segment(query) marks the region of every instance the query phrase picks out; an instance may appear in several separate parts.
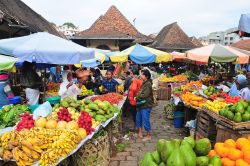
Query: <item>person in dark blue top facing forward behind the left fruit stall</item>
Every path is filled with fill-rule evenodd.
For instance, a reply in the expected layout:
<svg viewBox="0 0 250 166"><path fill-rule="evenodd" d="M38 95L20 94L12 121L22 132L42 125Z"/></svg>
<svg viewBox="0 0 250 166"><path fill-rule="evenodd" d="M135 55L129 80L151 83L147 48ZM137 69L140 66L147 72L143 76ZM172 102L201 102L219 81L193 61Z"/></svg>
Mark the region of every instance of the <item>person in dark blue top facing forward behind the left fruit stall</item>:
<svg viewBox="0 0 250 166"><path fill-rule="evenodd" d="M106 93L110 93L110 92L118 93L119 83L115 79L113 79L113 71L109 71L109 70L107 71L106 79L102 81L102 85Z"/></svg>

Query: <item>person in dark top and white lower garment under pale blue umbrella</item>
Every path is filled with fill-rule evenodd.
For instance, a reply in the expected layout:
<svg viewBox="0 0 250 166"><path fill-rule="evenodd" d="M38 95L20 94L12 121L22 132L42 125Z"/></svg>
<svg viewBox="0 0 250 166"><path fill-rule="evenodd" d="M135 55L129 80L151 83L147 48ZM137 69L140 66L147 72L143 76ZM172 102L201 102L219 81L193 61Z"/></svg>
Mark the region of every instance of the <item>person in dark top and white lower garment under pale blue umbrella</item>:
<svg viewBox="0 0 250 166"><path fill-rule="evenodd" d="M36 73L33 63L24 62L20 82L25 87L27 104L38 104L40 97L39 88L42 86L42 79Z"/></svg>

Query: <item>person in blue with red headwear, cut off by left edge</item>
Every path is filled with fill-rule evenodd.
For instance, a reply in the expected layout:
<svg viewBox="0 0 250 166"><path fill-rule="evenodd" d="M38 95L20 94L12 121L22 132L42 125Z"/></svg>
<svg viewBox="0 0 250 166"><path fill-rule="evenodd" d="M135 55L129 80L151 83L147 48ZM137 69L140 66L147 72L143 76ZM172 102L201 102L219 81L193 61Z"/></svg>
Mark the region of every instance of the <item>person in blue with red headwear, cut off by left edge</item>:
<svg viewBox="0 0 250 166"><path fill-rule="evenodd" d="M9 104L8 98L14 97L8 79L9 75L7 73L0 73L0 109Z"/></svg>

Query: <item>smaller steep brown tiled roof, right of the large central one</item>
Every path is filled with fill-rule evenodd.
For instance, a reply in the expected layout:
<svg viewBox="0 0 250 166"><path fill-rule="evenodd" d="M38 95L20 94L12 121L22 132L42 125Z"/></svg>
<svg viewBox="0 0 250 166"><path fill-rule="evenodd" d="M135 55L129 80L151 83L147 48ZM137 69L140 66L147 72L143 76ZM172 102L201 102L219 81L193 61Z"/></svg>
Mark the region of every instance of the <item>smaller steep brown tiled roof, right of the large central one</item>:
<svg viewBox="0 0 250 166"><path fill-rule="evenodd" d="M177 22L165 26L156 36L152 47L158 49L192 49L196 46L190 41L186 33Z"/></svg>

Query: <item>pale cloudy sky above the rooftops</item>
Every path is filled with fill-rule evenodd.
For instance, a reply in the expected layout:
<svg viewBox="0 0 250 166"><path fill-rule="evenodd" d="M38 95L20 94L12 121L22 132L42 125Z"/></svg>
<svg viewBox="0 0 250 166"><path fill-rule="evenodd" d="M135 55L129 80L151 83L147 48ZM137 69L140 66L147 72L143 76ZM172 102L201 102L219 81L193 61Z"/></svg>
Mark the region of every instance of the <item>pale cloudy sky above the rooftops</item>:
<svg viewBox="0 0 250 166"><path fill-rule="evenodd" d="M72 22L81 29L115 5L143 34L158 33L177 22L188 36L201 37L237 27L241 14L250 13L249 0L22 0L57 25Z"/></svg>

